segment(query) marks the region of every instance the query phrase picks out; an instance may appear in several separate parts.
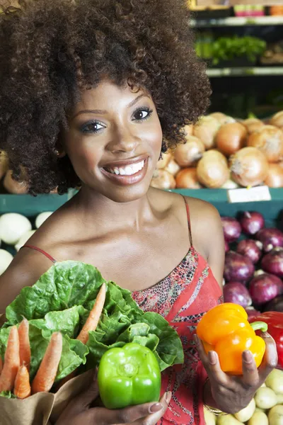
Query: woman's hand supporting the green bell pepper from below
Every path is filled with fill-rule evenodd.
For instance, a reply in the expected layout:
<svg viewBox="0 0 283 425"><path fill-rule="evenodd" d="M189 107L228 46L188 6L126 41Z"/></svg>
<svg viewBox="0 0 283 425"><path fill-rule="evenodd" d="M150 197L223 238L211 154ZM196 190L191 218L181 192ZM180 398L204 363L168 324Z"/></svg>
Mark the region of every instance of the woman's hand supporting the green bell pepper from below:
<svg viewBox="0 0 283 425"><path fill-rule="evenodd" d="M140 404L117 410L91 408L98 395L95 376L88 390L69 402L55 425L155 425L166 412L171 400L171 392L166 392L158 403Z"/></svg>

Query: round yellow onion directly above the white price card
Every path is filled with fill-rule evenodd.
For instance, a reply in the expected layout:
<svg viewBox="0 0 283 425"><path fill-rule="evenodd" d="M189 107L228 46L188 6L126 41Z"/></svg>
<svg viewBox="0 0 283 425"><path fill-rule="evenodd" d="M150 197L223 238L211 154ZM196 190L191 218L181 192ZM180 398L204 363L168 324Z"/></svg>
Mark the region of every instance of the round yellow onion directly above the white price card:
<svg viewBox="0 0 283 425"><path fill-rule="evenodd" d="M231 176L241 186L258 186L268 174L265 155L255 147L243 147L230 159Z"/></svg>

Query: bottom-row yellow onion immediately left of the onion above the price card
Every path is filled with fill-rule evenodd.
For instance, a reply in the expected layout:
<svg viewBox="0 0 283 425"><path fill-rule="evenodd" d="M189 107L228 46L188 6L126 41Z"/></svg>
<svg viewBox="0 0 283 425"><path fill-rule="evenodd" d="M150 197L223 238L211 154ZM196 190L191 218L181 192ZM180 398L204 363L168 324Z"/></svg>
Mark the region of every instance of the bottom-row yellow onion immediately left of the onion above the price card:
<svg viewBox="0 0 283 425"><path fill-rule="evenodd" d="M226 158L220 152L204 152L197 164L197 179L207 188L221 188L229 179Z"/></svg>

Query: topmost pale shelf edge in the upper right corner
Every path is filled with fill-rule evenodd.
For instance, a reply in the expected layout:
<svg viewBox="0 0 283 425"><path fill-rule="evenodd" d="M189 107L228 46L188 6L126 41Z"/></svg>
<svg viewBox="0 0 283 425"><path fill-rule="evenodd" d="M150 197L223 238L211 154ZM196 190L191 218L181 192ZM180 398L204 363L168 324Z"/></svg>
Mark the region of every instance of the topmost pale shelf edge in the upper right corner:
<svg viewBox="0 0 283 425"><path fill-rule="evenodd" d="M220 19L192 19L190 26L211 28L215 26L269 26L283 25L283 16L247 16Z"/></svg>

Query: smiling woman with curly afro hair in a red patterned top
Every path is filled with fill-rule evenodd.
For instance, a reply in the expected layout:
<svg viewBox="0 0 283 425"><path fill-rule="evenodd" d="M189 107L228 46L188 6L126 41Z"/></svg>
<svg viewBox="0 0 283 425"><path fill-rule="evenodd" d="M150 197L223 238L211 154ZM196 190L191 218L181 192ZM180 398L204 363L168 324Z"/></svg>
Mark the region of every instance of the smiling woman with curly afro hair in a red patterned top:
<svg viewBox="0 0 283 425"><path fill-rule="evenodd" d="M230 377L194 340L222 299L219 214L149 187L161 151L209 104L187 19L181 0L29 0L1 16L0 147L30 193L81 189L1 276L0 311L52 262L84 261L166 317L185 351L184 365L163 373L157 405L91 409L94 383L59 425L204 425L204 403L238 412L277 363L265 334L260 370L247 351L243 377Z"/></svg>

